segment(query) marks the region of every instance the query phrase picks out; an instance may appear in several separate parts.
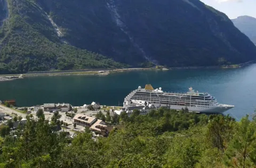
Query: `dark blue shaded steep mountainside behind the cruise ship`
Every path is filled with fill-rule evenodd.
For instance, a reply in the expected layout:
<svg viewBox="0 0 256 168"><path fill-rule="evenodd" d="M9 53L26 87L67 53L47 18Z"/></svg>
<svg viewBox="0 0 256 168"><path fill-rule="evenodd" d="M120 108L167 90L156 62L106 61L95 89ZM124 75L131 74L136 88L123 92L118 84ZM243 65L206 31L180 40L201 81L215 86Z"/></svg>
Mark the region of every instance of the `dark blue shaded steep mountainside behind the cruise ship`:
<svg viewBox="0 0 256 168"><path fill-rule="evenodd" d="M66 30L70 44L133 66L147 59L167 66L209 66L256 57L249 38L199 0L37 2Z"/></svg>

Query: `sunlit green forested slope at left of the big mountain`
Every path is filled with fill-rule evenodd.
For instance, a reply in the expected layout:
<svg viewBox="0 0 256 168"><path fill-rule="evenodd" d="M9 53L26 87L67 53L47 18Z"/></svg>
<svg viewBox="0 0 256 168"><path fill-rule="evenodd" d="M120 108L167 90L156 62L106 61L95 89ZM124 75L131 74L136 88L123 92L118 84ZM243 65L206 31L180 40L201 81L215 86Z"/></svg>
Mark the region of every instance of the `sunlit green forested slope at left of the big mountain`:
<svg viewBox="0 0 256 168"><path fill-rule="evenodd" d="M0 73L121 67L102 55L62 43L34 1L8 3L9 19L0 30Z"/></svg>

